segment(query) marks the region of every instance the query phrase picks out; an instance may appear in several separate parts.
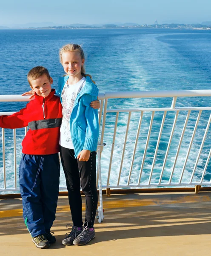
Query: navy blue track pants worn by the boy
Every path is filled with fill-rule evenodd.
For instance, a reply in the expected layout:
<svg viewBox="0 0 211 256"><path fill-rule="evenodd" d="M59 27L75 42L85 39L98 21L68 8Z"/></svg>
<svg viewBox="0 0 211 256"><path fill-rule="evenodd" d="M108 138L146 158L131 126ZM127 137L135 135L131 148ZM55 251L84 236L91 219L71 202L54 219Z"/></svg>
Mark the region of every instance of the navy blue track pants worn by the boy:
<svg viewBox="0 0 211 256"><path fill-rule="evenodd" d="M32 237L45 234L55 220L59 193L58 154L23 154L19 167L23 218Z"/></svg>

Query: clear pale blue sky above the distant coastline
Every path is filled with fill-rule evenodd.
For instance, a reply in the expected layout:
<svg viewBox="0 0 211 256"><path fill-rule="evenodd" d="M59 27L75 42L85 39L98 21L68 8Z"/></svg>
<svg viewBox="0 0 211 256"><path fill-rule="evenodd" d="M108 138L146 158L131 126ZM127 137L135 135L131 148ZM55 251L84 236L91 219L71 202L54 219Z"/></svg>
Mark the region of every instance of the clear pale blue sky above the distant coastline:
<svg viewBox="0 0 211 256"><path fill-rule="evenodd" d="M55 24L202 23L211 0L1 0L0 26Z"/></svg>

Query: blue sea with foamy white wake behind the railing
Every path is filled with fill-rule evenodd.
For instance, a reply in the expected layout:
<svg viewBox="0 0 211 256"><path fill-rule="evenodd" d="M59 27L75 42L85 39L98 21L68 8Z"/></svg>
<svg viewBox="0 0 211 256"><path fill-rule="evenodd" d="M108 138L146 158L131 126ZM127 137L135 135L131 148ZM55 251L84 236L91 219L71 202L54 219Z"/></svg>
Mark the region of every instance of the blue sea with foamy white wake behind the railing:
<svg viewBox="0 0 211 256"><path fill-rule="evenodd" d="M68 43L83 44L86 52L86 73L93 76L100 92L122 90L190 90L210 89L211 86L211 31L207 30L163 30L163 29L71 29L71 30L0 30L0 85L1 94L20 94L29 90L26 76L28 71L37 65L48 68L57 88L57 81L64 74L59 62L59 48ZM210 98L178 99L176 106L208 106ZM26 103L0 103L0 111L18 111ZM108 102L108 108L114 107L167 107L171 99L117 99ZM174 163L179 138L187 112L179 114L175 134L167 158L162 182L167 182ZM182 148L179 154L173 181L178 182L184 157L191 139L197 111L192 111L188 121ZM175 113L167 113L163 135L155 163L152 181L159 180L160 170L165 157L171 126ZM189 181L202 137L207 125L210 111L202 112L197 134L185 169L182 182ZM141 182L148 181L151 163L154 156L157 137L163 113L156 113L152 134L145 159ZM134 140L140 114L132 114L126 145L121 184L127 180ZM131 181L137 183L138 173L143 158L145 141L151 113L145 113L140 131L137 154ZM112 133L114 131L114 114L108 114L105 131L106 147L102 156L103 184L106 184L108 158L110 157ZM111 169L111 184L117 180L122 148L123 134L127 123L127 114L120 113L114 158ZM202 175L205 161L210 150L211 132L202 150L197 166L195 181ZM13 186L13 138L6 130L6 168L7 185ZM17 166L21 155L20 142L23 140L23 129L17 130ZM0 152L0 187L3 186L2 156ZM211 165L208 166L205 180L211 179ZM65 186L64 175L61 185Z"/></svg>

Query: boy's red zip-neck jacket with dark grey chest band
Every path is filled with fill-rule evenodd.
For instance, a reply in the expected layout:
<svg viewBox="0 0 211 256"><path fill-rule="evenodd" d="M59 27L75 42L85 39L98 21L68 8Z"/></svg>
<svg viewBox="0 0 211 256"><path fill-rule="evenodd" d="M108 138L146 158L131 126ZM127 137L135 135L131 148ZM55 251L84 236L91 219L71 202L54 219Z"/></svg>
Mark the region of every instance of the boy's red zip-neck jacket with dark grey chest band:
<svg viewBox="0 0 211 256"><path fill-rule="evenodd" d="M59 152L62 105L55 90L43 98L35 93L26 108L11 116L0 116L0 127L22 128L29 125L23 139L23 154L55 154Z"/></svg>

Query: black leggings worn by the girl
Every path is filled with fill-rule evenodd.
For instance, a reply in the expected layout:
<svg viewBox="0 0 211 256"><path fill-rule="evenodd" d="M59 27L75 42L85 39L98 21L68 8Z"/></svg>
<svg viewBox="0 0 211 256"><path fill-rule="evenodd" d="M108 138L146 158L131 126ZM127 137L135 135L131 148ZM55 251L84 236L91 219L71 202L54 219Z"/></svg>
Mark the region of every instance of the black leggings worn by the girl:
<svg viewBox="0 0 211 256"><path fill-rule="evenodd" d="M60 147L61 162L66 177L68 199L73 225L82 227L82 199L80 183L86 197L86 218L88 227L94 225L97 210L96 152L91 152L86 162L74 158L74 149ZM81 180L81 182L80 182Z"/></svg>

